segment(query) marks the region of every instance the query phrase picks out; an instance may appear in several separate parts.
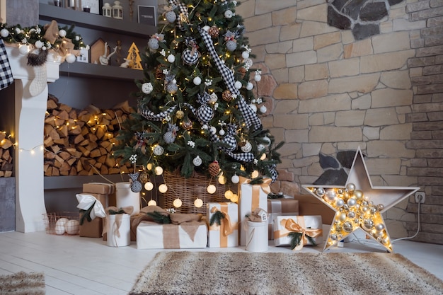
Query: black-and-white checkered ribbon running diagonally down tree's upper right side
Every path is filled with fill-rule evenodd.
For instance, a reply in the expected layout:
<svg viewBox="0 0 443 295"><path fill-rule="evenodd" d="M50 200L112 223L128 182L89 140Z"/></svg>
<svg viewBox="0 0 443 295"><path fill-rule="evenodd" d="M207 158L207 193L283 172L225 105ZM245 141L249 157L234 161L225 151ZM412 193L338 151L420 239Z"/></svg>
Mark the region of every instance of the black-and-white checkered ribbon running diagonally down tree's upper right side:
<svg viewBox="0 0 443 295"><path fill-rule="evenodd" d="M227 66L223 64L222 60L217 54L217 51L214 48L211 36L209 36L209 34L200 27L198 27L198 31L200 32L200 35L202 35L203 42L205 42L206 48L209 51L209 54L211 54L211 57L214 60L220 75L222 75L222 79L226 84L226 87L229 89L229 91L231 91L231 93L237 95L238 110L240 110L241 114L243 115L246 127L249 128L251 127L251 125L254 125L255 130L260 129L262 127L260 118L258 117L257 113L249 107L249 105L240 95L240 91L238 91L238 89L235 87L234 74L230 69L228 69Z"/></svg>

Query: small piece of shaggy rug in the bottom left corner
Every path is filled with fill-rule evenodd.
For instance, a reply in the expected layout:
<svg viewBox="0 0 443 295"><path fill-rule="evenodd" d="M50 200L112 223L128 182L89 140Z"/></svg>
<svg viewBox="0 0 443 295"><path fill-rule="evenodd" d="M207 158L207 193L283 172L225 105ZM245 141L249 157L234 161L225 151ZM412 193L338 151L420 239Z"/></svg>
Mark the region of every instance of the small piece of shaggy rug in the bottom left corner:
<svg viewBox="0 0 443 295"><path fill-rule="evenodd" d="M17 272L0 276L1 295L45 295L43 272Z"/></svg>

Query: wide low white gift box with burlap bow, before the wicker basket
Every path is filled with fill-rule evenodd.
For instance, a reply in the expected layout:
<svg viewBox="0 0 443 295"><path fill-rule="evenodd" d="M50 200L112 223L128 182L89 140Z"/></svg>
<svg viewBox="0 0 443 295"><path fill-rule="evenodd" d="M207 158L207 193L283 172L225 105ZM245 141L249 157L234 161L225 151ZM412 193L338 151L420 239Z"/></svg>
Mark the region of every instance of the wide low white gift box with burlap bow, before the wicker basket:
<svg viewBox="0 0 443 295"><path fill-rule="evenodd" d="M157 224L142 221L137 226L137 249L206 248L206 221Z"/></svg>

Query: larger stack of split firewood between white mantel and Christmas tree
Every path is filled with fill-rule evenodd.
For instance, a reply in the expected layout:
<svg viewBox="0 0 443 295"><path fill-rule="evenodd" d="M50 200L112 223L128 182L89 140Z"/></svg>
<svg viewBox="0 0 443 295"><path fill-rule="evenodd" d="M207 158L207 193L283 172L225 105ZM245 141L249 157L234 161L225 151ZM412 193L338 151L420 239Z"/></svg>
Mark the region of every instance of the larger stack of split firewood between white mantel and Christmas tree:
<svg viewBox="0 0 443 295"><path fill-rule="evenodd" d="M50 95L44 129L45 176L129 173L131 164L120 166L112 149L120 123L131 112L127 101L108 110L93 105L77 110Z"/></svg>

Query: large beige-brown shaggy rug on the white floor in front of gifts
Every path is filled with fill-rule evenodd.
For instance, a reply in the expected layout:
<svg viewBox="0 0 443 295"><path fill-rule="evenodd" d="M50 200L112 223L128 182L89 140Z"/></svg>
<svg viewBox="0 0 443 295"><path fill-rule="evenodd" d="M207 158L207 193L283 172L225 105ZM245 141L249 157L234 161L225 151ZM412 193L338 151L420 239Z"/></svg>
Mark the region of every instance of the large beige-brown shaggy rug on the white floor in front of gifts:
<svg viewBox="0 0 443 295"><path fill-rule="evenodd" d="M443 294L443 282L392 253L161 252L130 295Z"/></svg>

